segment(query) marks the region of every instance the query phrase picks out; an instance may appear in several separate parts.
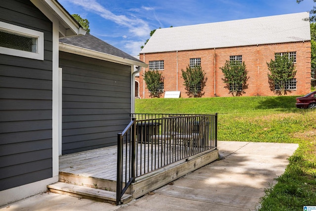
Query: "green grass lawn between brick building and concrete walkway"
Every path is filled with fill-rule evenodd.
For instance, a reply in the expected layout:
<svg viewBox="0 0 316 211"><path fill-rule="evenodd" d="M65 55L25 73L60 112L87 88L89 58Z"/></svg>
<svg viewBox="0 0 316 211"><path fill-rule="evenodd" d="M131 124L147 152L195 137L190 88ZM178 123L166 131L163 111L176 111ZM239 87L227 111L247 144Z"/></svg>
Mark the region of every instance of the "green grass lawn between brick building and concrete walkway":
<svg viewBox="0 0 316 211"><path fill-rule="evenodd" d="M136 113L218 113L218 140L298 143L260 211L316 206L316 111L295 108L295 96L137 99Z"/></svg>

